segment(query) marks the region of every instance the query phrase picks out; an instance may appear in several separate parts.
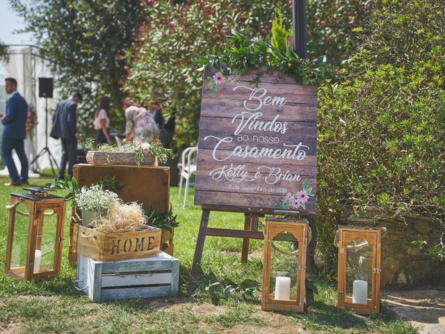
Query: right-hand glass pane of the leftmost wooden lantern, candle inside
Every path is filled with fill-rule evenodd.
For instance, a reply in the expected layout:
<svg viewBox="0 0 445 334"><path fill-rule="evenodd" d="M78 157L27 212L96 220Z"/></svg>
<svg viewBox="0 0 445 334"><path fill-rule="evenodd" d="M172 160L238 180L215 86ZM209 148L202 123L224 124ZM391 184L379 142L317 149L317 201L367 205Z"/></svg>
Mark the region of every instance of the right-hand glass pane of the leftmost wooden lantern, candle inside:
<svg viewBox="0 0 445 334"><path fill-rule="evenodd" d="M54 257L57 245L58 215L52 209L46 209L37 228L35 243L34 273L54 270Z"/></svg>

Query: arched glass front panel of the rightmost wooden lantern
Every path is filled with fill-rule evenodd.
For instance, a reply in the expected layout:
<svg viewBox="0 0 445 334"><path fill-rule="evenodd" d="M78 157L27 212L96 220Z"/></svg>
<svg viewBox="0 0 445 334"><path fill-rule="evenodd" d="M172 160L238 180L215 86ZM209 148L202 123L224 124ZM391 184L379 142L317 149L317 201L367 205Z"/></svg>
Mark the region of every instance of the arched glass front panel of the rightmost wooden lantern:
<svg viewBox="0 0 445 334"><path fill-rule="evenodd" d="M346 246L345 296L355 304L366 305L372 299L373 246L362 238Z"/></svg>

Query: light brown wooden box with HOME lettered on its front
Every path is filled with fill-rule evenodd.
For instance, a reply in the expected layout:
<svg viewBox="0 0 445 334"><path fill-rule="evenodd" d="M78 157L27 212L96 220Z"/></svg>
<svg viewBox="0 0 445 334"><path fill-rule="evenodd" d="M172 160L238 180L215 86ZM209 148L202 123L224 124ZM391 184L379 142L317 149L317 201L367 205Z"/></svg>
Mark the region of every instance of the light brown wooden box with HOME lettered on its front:
<svg viewBox="0 0 445 334"><path fill-rule="evenodd" d="M107 262L157 256L161 247L161 229L122 233L103 233L81 224L74 225L73 250Z"/></svg>

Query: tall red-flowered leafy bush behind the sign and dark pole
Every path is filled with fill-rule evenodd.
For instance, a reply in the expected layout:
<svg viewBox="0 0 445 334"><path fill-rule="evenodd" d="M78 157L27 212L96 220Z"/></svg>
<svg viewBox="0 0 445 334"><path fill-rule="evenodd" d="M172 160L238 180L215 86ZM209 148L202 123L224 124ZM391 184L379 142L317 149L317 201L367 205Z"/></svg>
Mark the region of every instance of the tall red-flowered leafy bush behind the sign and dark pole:
<svg viewBox="0 0 445 334"><path fill-rule="evenodd" d="M337 63L359 43L353 28L366 17L365 0L316 0L307 3L308 56ZM192 0L147 1L146 20L129 52L129 75L125 88L140 103L158 102L177 123L177 147L197 141L202 72L195 61L221 49L226 35L238 26L266 38L277 9L282 27L291 27L291 0ZM365 8L366 6L366 8ZM349 21L348 16L353 15ZM357 12L357 13L355 13ZM329 13L322 17L321 13ZM323 24L316 17L323 18ZM280 22L277 22L280 23ZM285 28L283 28L285 29Z"/></svg>

